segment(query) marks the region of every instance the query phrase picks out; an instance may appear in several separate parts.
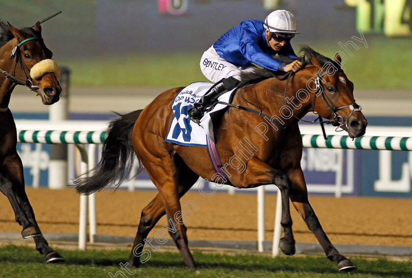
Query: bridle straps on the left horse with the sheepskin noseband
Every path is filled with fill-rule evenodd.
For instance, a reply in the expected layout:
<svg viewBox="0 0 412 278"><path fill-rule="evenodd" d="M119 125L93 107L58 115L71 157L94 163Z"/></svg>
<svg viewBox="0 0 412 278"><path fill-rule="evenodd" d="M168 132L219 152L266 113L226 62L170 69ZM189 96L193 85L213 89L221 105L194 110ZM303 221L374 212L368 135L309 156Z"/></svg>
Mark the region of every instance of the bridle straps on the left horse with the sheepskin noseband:
<svg viewBox="0 0 412 278"><path fill-rule="evenodd" d="M29 91L36 91L36 90L39 89L39 87L33 85L32 79L30 78L30 76L27 76L26 71L28 73L30 73L30 71L27 69L25 63L23 62L22 55L21 55L21 52L20 52L20 47L24 43L26 43L28 41L32 41L32 40L41 40L41 41L43 41L43 38L42 37L31 37L31 38L23 40L18 45L16 45L16 47L13 48L13 50L11 51L11 54L10 54L10 59L13 59L14 57L16 57L16 64L14 65L13 75L11 75L8 72L3 71L1 69L0 69L0 73L3 75L3 77L9 78L13 83L16 83L18 85L24 85L24 86L26 86L27 90L29 90ZM17 64L20 64L20 67L21 67L21 69L23 71L23 74L26 78L26 81L21 80L21 79L19 79L15 76L16 75Z"/></svg>

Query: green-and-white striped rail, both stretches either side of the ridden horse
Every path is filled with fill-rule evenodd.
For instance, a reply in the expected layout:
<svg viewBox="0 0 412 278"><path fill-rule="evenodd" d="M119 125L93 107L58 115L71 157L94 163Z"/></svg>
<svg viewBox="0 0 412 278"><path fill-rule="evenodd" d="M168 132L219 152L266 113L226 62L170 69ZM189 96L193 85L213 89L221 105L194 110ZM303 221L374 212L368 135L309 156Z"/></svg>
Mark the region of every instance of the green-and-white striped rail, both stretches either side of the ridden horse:
<svg viewBox="0 0 412 278"><path fill-rule="evenodd" d="M19 143L102 144L106 131L17 130ZM302 134L305 148L412 151L412 137Z"/></svg>

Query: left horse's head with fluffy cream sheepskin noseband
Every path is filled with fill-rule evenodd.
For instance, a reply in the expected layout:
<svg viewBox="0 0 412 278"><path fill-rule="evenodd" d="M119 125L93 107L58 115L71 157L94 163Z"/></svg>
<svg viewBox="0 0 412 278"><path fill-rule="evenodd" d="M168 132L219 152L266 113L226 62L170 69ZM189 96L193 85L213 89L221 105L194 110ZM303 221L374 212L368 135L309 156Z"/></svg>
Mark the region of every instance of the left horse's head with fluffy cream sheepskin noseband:
<svg viewBox="0 0 412 278"><path fill-rule="evenodd" d="M26 80L27 87L40 95L43 104L58 101L61 87L57 78L60 70L51 60L52 51L43 42L40 23L37 22L32 28L18 29L10 24L8 27L14 36L8 43L16 46L10 55L10 59L15 60L12 65L14 76Z"/></svg>

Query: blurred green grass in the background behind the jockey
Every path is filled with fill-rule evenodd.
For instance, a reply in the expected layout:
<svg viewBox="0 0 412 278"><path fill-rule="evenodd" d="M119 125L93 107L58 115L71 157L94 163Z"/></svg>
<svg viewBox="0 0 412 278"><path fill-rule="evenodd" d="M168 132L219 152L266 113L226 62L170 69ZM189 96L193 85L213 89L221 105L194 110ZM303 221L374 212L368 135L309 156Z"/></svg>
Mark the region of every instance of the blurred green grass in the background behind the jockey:
<svg viewBox="0 0 412 278"><path fill-rule="evenodd" d="M354 33L354 35L357 35ZM359 37L359 34L358 34ZM309 44L315 51L333 57L342 51L338 45L351 38L324 42L296 41ZM345 73L355 84L355 89L412 89L411 39L388 39L367 36L368 48L358 42L359 50L347 55ZM195 81L206 81L200 71L202 51L135 52L122 55L104 55L59 60L72 70L74 86L184 86Z"/></svg>

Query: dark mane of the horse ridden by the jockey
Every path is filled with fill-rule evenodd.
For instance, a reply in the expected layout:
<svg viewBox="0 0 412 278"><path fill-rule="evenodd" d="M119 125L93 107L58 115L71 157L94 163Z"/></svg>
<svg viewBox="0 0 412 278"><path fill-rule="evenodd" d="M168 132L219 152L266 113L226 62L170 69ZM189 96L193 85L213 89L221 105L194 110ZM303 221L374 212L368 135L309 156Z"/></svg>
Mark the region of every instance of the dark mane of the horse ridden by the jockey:
<svg viewBox="0 0 412 278"><path fill-rule="evenodd" d="M303 52L304 56L303 57L296 57L296 58L291 58L287 56L282 56L282 55L277 55L276 59L280 60L281 62L285 64L290 64L291 62L295 60L300 60L302 62L302 69L305 68L307 65L312 65L312 62L310 61L309 57L313 56L315 57L322 65L326 63L332 63L337 69L340 69L339 63L336 63L334 60L319 54L318 52L314 51L312 48L310 48L308 45L301 45L301 49L299 53ZM279 72L271 71L265 68L256 68L253 71L249 72L242 72L240 74L240 83L238 87L246 86L248 84L256 84L262 80L274 77L274 76L282 76L283 74L279 75Z"/></svg>

